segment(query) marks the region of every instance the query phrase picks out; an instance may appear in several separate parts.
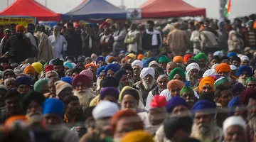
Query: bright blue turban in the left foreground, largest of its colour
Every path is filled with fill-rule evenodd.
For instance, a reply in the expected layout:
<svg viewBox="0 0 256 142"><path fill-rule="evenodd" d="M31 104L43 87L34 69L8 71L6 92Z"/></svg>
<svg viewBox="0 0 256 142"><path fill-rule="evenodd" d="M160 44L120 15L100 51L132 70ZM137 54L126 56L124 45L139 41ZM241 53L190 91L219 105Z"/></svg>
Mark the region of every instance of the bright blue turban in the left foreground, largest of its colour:
<svg viewBox="0 0 256 142"><path fill-rule="evenodd" d="M64 114L64 104L59 99L46 99L43 102L43 114L58 114L63 118Z"/></svg>

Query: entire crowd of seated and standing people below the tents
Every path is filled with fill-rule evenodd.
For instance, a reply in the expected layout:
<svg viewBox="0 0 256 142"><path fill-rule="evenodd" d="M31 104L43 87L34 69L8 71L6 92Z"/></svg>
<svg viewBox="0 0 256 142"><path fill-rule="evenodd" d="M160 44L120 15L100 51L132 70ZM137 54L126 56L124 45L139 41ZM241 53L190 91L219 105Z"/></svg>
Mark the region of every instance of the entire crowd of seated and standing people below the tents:
<svg viewBox="0 0 256 142"><path fill-rule="evenodd" d="M0 26L0 142L255 142L254 23Z"/></svg>

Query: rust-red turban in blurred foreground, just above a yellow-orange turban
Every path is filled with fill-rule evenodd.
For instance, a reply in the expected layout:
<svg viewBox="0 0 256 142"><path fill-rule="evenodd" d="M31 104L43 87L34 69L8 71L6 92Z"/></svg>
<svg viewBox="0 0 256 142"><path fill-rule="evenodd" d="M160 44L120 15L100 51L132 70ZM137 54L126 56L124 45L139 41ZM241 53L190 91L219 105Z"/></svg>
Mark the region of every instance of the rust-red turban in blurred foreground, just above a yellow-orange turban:
<svg viewBox="0 0 256 142"><path fill-rule="evenodd" d="M112 116L112 118L110 120L110 129L113 134L116 131L117 123L120 119L136 120L136 121L127 122L127 123L129 123L127 125L133 126L134 130L143 130L144 129L144 124L142 122L142 119L140 119L140 117L138 116L138 114L136 114L136 112L134 112L132 110L121 110L121 111L117 111L117 113L114 114L114 116Z"/></svg>

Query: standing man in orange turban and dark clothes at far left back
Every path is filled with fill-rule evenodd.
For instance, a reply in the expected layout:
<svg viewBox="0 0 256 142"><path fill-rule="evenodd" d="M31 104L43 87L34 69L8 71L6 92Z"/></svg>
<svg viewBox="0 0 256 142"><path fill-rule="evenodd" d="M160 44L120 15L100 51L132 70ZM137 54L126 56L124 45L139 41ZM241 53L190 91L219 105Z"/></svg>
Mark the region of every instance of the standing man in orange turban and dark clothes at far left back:
<svg viewBox="0 0 256 142"><path fill-rule="evenodd" d="M20 63L28 58L28 52L31 51L32 45L29 40L24 35L25 27L22 25L16 26L16 35L11 36L9 40L6 41L5 49L10 49L9 54L11 62Z"/></svg>

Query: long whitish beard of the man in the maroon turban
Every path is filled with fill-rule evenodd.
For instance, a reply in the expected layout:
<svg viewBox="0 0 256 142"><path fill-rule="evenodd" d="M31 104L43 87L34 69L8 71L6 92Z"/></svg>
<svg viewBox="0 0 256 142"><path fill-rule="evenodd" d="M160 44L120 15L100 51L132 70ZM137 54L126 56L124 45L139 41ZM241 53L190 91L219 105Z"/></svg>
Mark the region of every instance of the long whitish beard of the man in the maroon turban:
<svg viewBox="0 0 256 142"><path fill-rule="evenodd" d="M90 101L95 97L95 95L91 93L90 89L74 91L74 96L78 97L82 109L89 107Z"/></svg>

